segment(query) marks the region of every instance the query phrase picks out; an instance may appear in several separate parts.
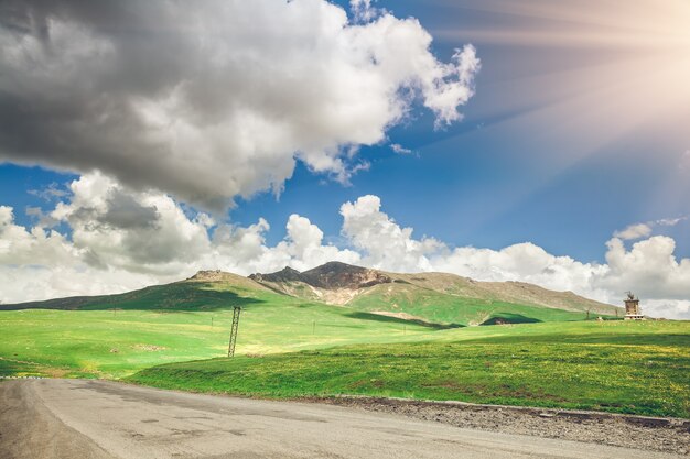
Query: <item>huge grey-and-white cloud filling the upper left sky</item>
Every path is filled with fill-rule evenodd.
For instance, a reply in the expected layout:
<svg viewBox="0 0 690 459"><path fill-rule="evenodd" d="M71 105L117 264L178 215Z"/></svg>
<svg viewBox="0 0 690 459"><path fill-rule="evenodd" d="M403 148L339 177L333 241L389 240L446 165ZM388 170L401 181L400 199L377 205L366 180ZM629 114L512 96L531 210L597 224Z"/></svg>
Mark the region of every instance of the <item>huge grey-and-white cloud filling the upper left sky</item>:
<svg viewBox="0 0 690 459"><path fill-rule="evenodd" d="M430 52L413 18L353 0L0 6L0 160L98 170L212 209L272 189L295 157L347 182L414 100L461 119L474 47Z"/></svg>

